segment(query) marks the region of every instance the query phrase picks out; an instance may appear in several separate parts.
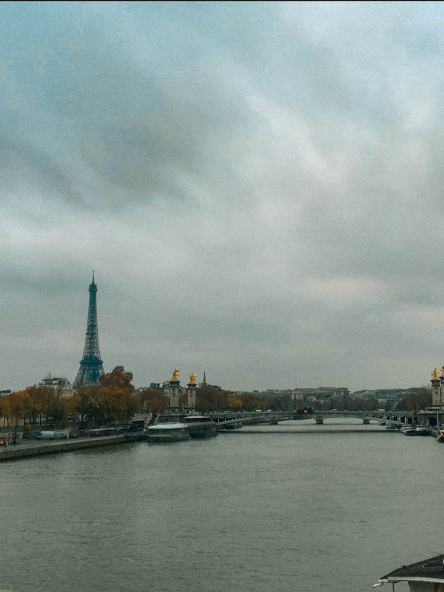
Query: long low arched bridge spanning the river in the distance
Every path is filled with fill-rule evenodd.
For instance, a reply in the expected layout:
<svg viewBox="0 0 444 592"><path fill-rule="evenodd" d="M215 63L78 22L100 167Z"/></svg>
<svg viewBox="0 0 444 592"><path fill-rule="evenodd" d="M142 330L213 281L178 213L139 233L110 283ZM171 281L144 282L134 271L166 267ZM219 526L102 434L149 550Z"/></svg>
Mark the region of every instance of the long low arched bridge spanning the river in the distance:
<svg viewBox="0 0 444 592"><path fill-rule="evenodd" d="M377 423L389 423L397 426L412 423L425 423L427 425L437 425L440 423L441 414L430 412L416 412L416 411L338 411L337 409L330 409L326 411L311 410L302 414L296 409L291 411L264 411L264 412L207 412L205 415L212 418L216 423L216 430L234 430L241 428L242 425L248 423L271 423L277 424L280 421L289 419L314 419L317 424L323 424L327 418L359 418L363 423L370 423L370 421L377 421ZM444 414L443 414L444 415Z"/></svg>

